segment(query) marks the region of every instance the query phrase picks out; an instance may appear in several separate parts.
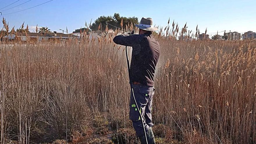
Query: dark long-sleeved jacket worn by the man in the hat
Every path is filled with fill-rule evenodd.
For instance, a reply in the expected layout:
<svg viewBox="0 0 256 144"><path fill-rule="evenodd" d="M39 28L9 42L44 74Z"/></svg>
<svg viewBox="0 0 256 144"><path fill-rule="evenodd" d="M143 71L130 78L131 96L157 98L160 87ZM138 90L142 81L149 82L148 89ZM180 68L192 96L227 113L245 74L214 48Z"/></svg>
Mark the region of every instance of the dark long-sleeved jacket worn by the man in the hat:
<svg viewBox="0 0 256 144"><path fill-rule="evenodd" d="M154 74L159 59L160 47L151 32L141 35L118 35L113 41L118 45L132 47L131 82L154 86Z"/></svg>

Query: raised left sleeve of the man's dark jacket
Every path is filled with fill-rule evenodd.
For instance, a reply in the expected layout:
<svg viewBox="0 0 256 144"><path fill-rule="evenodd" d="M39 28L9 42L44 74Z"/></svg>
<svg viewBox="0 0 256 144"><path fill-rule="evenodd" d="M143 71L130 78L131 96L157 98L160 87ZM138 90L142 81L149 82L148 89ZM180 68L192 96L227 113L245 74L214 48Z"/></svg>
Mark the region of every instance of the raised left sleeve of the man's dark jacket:
<svg viewBox="0 0 256 144"><path fill-rule="evenodd" d="M115 38L113 38L113 41L118 45L135 47L141 43L143 38L144 37L142 35L123 34L115 36Z"/></svg>

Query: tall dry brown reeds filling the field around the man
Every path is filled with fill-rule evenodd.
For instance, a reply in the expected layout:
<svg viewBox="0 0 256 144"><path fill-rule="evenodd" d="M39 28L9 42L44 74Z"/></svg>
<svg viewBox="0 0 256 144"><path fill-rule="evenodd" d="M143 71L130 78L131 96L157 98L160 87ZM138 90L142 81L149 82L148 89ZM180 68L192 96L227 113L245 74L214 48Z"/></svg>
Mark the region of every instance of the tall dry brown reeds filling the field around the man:
<svg viewBox="0 0 256 144"><path fill-rule="evenodd" d="M168 38L155 36L161 57L154 123L188 143L196 133L211 143L256 143L256 42L178 41L174 22L164 31ZM186 25L182 31L191 33ZM1 142L86 135L99 113L130 123L124 48L108 36L65 44L1 42Z"/></svg>

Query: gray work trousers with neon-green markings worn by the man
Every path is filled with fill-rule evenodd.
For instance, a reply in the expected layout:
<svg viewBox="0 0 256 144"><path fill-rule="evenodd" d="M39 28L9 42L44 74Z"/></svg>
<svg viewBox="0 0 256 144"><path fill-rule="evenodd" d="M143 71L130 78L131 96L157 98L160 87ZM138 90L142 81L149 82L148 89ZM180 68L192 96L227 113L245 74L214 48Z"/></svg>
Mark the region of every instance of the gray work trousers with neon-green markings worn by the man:
<svg viewBox="0 0 256 144"><path fill-rule="evenodd" d="M139 110L136 108L136 104L134 102L133 95L131 92L130 120L132 121L132 125L136 131L136 135L140 137L144 135L144 130L141 124L141 119L138 111L141 112L141 116L143 119L143 124L146 132L148 131L149 127L152 127L154 125L152 123L152 115L151 115L154 87L132 84L132 88L134 90L134 97L138 104Z"/></svg>

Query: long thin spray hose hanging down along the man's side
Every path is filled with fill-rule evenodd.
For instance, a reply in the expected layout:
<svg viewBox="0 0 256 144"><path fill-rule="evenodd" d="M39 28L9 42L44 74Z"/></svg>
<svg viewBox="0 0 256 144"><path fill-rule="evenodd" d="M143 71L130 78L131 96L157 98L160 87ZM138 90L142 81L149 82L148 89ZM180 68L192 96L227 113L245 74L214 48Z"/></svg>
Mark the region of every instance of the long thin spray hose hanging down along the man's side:
<svg viewBox="0 0 256 144"><path fill-rule="evenodd" d="M134 30L132 30L132 32L131 32L131 35L133 35L133 34L134 34ZM130 83L130 86L131 86L131 93L132 93L136 108L139 109L138 104L137 104L136 99L135 99L135 96L134 96L134 91L133 91L133 88L132 88L131 74L130 74L130 64L129 64L127 46L125 46L125 51L126 51L126 59L127 59L127 65L128 65L128 74L129 74L129 83ZM138 111L138 113L139 113L139 116L140 116L140 119L141 119L141 125L143 127L144 136L145 136L145 139L146 139L146 142L147 142L147 135L146 135L146 130L145 130L145 127L144 127L143 119L142 119L142 116L141 116L141 112Z"/></svg>

